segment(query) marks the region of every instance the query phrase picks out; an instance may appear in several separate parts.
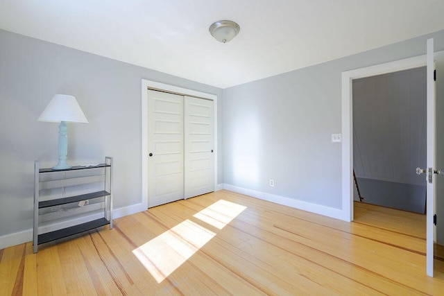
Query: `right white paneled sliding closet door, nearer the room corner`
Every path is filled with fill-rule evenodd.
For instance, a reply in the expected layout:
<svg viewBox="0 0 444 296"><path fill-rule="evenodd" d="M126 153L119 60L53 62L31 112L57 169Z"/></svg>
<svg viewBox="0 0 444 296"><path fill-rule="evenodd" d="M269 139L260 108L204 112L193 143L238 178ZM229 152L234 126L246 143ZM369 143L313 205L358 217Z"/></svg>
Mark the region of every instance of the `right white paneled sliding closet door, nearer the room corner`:
<svg viewBox="0 0 444 296"><path fill-rule="evenodd" d="M185 96L185 198L214 191L214 102Z"/></svg>

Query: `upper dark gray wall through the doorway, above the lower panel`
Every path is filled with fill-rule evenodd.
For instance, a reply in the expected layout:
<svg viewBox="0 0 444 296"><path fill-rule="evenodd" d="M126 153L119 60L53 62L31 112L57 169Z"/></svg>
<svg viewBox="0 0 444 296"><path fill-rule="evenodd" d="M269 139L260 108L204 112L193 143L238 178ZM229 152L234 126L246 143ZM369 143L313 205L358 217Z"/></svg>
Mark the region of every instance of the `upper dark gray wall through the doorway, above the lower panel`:
<svg viewBox="0 0 444 296"><path fill-rule="evenodd" d="M425 67L353 80L353 164L357 177L424 185Z"/></svg>

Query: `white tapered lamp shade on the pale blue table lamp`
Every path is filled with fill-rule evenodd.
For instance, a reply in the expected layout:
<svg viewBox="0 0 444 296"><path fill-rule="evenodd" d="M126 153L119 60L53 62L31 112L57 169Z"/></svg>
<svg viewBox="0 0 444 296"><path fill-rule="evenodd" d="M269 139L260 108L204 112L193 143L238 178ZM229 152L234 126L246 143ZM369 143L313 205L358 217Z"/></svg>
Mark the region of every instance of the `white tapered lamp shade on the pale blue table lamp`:
<svg viewBox="0 0 444 296"><path fill-rule="evenodd" d="M38 121L88 123L76 98L67 94L56 94L43 110Z"/></svg>

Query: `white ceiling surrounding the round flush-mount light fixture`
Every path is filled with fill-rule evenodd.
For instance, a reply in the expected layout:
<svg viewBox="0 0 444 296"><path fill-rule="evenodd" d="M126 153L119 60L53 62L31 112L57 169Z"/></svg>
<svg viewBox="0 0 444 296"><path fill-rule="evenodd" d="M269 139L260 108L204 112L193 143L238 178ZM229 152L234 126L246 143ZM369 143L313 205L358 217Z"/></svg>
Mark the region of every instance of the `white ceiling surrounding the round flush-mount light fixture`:
<svg viewBox="0 0 444 296"><path fill-rule="evenodd" d="M0 0L0 28L231 87L444 29L444 0ZM227 44L208 28L241 26Z"/></svg>

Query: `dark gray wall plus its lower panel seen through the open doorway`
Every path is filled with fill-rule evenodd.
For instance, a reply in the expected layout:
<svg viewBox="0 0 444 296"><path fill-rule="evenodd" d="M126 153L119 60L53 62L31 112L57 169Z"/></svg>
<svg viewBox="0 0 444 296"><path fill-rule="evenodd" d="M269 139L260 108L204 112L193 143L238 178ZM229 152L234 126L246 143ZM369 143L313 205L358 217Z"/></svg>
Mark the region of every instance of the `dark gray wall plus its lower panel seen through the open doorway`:
<svg viewBox="0 0 444 296"><path fill-rule="evenodd" d="M352 81L354 199L425 214L425 67Z"/></svg>

